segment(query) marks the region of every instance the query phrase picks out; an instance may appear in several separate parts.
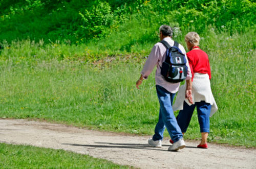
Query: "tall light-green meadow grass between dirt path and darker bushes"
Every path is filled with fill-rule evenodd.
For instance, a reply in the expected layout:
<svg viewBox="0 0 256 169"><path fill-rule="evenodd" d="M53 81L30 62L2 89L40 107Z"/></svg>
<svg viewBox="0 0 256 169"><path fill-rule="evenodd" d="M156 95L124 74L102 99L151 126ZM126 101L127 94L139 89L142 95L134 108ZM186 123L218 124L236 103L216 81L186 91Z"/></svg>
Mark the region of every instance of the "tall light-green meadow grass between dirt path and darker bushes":
<svg viewBox="0 0 256 169"><path fill-rule="evenodd" d="M229 36L210 30L201 36L219 107L210 119L209 141L256 146L254 31ZM135 87L145 62L144 52L105 55L104 60L95 62L95 58L91 62L86 57L72 58L82 48L57 43L40 46L31 41L6 47L0 60L0 117L153 134L159 111L154 71L140 90ZM67 57L58 57L60 52ZM200 137L195 113L185 138Z"/></svg>

